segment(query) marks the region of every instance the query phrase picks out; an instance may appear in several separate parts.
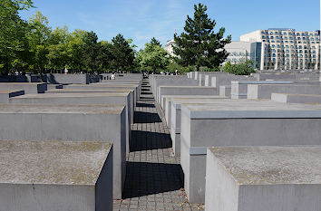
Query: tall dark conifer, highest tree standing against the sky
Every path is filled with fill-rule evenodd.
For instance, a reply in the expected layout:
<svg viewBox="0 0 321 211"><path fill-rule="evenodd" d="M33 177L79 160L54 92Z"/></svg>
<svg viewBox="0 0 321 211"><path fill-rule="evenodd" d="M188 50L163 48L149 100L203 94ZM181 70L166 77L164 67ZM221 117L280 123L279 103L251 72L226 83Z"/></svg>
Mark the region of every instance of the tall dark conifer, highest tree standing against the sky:
<svg viewBox="0 0 321 211"><path fill-rule="evenodd" d="M224 49L230 43L231 36L224 38L225 28L214 33L215 20L206 14L206 5L194 5L194 17L187 16L184 33L174 34L175 45L172 45L177 61L183 66L193 65L199 71L201 66L219 67L229 53Z"/></svg>

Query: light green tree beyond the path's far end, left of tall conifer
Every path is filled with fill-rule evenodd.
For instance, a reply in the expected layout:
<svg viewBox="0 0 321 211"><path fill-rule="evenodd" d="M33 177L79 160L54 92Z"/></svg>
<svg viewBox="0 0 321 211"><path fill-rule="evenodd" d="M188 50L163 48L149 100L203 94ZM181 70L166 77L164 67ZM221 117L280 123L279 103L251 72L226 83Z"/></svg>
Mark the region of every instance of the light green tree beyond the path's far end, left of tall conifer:
<svg viewBox="0 0 321 211"><path fill-rule="evenodd" d="M153 37L151 43L146 43L145 48L137 53L136 61L141 69L160 72L166 69L170 63L170 58L161 47L160 42Z"/></svg>

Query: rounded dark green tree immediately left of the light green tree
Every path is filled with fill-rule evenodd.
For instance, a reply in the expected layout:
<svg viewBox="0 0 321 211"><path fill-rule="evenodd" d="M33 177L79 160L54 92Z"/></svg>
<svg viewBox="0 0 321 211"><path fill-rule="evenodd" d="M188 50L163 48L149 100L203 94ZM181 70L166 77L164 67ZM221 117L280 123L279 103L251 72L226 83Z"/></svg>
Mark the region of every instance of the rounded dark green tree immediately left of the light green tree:
<svg viewBox="0 0 321 211"><path fill-rule="evenodd" d="M135 54L130 43L122 34L112 38L112 62L111 66L117 71L131 71Z"/></svg>

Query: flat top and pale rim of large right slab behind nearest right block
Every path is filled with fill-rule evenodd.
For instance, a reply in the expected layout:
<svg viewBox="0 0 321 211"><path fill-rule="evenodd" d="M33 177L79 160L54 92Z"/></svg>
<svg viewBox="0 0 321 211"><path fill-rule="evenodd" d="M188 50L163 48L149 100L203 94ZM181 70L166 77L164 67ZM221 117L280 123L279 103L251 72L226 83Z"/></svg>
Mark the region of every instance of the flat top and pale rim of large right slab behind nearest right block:
<svg viewBox="0 0 321 211"><path fill-rule="evenodd" d="M211 103L183 104L181 110L192 119L219 118L321 118L321 106L286 104L265 100L221 99Z"/></svg>

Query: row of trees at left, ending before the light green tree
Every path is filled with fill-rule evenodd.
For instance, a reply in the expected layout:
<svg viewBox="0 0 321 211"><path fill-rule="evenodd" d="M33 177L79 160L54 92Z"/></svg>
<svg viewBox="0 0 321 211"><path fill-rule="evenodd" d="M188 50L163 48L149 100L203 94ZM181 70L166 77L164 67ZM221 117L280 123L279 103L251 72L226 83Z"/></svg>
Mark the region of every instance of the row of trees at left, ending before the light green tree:
<svg viewBox="0 0 321 211"><path fill-rule="evenodd" d="M122 34L112 42L98 42L97 34L67 26L52 29L47 18L37 12L28 22L19 11L33 6L31 0L0 2L0 70L8 72L131 71L134 68L134 45Z"/></svg>

